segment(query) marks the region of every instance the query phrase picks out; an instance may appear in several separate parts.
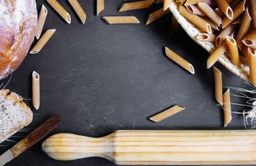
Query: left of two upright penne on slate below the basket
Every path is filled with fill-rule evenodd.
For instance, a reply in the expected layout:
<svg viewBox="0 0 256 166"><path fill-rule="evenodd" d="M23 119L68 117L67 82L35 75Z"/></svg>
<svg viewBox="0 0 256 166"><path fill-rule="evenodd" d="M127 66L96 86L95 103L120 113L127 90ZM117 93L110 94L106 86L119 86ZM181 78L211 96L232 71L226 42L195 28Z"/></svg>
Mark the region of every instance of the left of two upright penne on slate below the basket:
<svg viewBox="0 0 256 166"><path fill-rule="evenodd" d="M223 105L222 100L222 76L220 70L213 66L213 75L214 75L214 91L215 99L220 105Z"/></svg>

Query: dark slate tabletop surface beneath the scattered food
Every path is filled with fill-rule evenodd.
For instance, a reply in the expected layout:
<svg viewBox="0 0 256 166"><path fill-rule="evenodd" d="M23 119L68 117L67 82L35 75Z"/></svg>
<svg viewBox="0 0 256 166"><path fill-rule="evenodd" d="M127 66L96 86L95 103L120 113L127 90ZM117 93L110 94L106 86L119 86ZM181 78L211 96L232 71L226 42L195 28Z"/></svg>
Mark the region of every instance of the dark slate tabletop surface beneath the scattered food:
<svg viewBox="0 0 256 166"><path fill-rule="evenodd" d="M38 8L45 4L48 9L44 31L57 30L39 54L28 54L7 86L29 99L31 73L40 73L40 110L33 110L34 120L27 128L35 128L52 114L59 114L61 126L47 137L60 132L101 137L120 129L224 129L222 110L214 100L212 69L206 69L207 52L182 29L171 35L170 14L145 25L148 14L161 5L118 13L126 1L106 0L104 12L96 17L95 2L80 1L87 14L83 25L67 1L60 3L70 13L71 24L65 23L45 1L36 2ZM102 20L105 15L134 15L141 24L109 25ZM165 46L191 62L195 75L168 59ZM216 66L223 74L223 86L248 87L220 64ZM232 98L232 102L244 101ZM26 103L31 106L29 100ZM176 104L186 110L160 123L148 120ZM241 109L234 105L232 108ZM244 129L243 117L234 115L227 129ZM41 151L42 141L8 165L114 165L102 158L52 160ZM8 146L0 147L0 153L13 145L3 144Z"/></svg>

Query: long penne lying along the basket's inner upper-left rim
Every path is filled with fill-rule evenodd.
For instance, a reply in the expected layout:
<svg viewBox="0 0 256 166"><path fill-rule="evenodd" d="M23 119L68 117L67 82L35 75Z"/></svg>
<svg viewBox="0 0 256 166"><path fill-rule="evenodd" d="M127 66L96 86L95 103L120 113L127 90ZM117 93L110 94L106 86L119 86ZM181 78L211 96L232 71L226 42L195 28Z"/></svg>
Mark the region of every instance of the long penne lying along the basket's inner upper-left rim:
<svg viewBox="0 0 256 166"><path fill-rule="evenodd" d="M195 26L199 27L202 31L204 31L206 33L212 33L211 26L207 22L205 22L205 20L201 19L197 15L193 15L193 14L189 13L189 11L186 10L186 8L182 5L180 5L179 11L180 11L180 14L185 19L187 19L190 22L192 22L193 24L195 24Z"/></svg>

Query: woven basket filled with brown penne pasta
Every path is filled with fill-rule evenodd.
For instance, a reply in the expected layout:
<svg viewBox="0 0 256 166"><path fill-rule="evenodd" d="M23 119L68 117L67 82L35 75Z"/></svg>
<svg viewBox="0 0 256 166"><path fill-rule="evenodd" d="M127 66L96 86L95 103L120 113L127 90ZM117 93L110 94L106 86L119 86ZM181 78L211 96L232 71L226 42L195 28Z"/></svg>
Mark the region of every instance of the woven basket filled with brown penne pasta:
<svg viewBox="0 0 256 166"><path fill-rule="evenodd" d="M207 68L216 61L256 85L256 1L171 0L170 11L198 45L209 52Z"/></svg>

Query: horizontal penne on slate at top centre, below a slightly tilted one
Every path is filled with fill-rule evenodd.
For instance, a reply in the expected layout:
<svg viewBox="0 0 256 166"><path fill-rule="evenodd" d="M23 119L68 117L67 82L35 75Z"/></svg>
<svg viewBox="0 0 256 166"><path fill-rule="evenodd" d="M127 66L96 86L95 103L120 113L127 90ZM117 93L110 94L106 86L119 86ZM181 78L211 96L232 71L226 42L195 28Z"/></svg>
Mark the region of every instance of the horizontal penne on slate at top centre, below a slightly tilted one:
<svg viewBox="0 0 256 166"><path fill-rule="evenodd" d="M108 24L139 24L140 21L134 16L106 16L103 19Z"/></svg>

